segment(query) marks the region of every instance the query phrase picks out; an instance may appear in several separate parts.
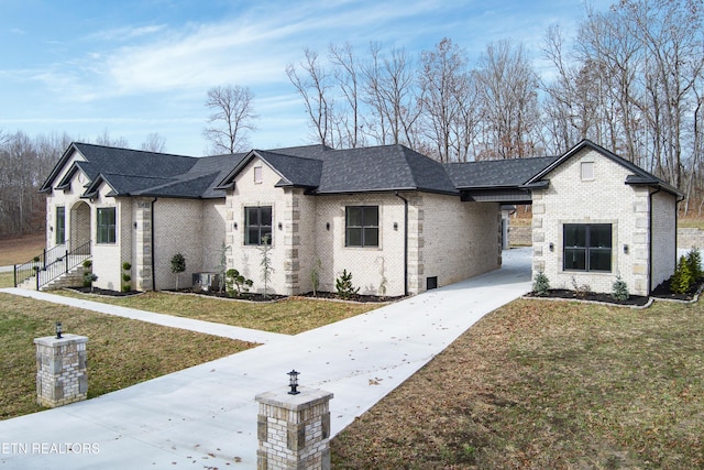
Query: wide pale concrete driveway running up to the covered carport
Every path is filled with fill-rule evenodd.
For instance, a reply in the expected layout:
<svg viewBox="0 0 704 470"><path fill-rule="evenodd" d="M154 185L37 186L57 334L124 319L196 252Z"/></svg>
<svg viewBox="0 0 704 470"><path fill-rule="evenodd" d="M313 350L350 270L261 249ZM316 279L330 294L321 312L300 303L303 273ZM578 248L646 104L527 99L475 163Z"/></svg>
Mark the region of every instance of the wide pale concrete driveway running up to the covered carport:
<svg viewBox="0 0 704 470"><path fill-rule="evenodd" d="M334 436L485 314L529 289L530 250L504 252L498 271L94 400L0 422L0 467L256 468L254 396L285 386L286 372L296 369L302 386L334 393Z"/></svg>

